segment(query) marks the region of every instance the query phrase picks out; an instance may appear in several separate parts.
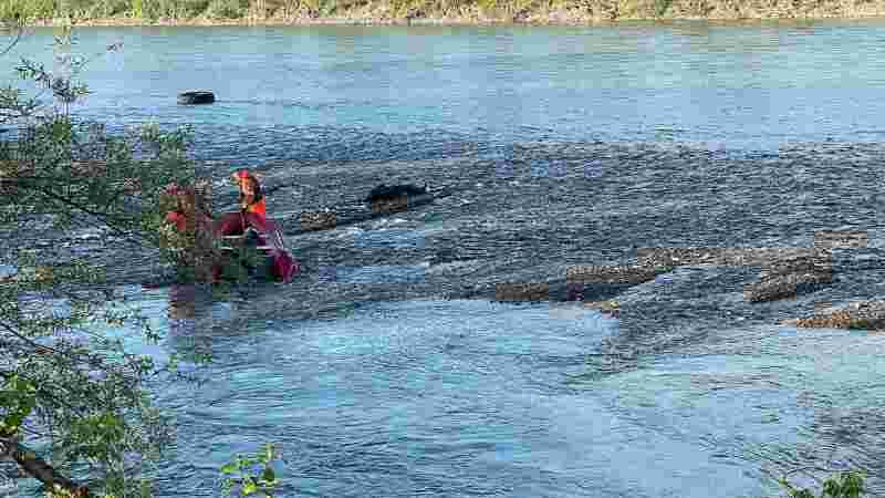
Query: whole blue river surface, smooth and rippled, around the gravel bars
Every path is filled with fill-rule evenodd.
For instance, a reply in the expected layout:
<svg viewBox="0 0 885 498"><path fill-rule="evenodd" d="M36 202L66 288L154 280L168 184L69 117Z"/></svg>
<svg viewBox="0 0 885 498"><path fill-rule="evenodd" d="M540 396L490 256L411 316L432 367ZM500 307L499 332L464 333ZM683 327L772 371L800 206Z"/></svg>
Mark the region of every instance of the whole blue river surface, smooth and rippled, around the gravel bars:
<svg viewBox="0 0 885 498"><path fill-rule="evenodd" d="M178 421L159 496L220 496L218 467L264 442L291 497L762 497L766 473L804 465L863 468L885 496L885 336L775 325L885 295L885 22L83 29L75 46L121 41L76 112L195 125L221 205L242 166L280 187L283 221L383 181L455 191L290 236L294 283L189 319L123 289L168 331L146 351L216 359L208 384L158 394ZM218 102L176 104L195 89ZM601 290L618 319L478 299L636 247L843 228L870 247L793 300L749 303L758 268L700 266Z"/></svg>

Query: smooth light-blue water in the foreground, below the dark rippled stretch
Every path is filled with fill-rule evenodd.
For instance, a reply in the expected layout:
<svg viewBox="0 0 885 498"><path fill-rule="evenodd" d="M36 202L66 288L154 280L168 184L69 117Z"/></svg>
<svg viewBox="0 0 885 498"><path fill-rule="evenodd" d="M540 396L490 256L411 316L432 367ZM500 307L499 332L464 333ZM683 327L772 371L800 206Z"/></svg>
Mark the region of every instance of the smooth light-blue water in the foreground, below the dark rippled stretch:
<svg viewBox="0 0 885 498"><path fill-rule="evenodd" d="M777 489L762 470L875 469L885 450L881 334L727 326L601 375L622 321L565 305L421 300L228 328L253 303L171 323L165 297L129 290L177 325L153 353L199 344L215 362L159 396L179 430L160 496L218 496L215 470L268 440L281 496L758 497Z"/></svg>

